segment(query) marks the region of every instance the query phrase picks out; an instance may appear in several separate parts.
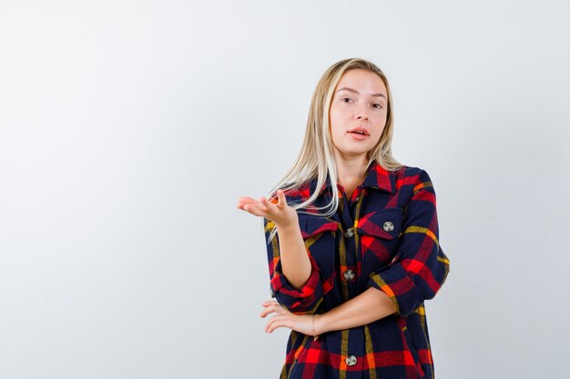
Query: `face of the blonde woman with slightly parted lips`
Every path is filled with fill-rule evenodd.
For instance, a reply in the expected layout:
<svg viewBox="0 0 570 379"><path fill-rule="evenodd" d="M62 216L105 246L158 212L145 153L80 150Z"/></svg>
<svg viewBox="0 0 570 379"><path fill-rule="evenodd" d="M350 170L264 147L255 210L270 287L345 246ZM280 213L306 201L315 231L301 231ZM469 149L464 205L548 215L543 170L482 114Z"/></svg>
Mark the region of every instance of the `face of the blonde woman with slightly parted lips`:
<svg viewBox="0 0 570 379"><path fill-rule="evenodd" d="M380 140L387 112L388 91L380 76L363 69L344 73L334 89L329 113L335 155L366 157Z"/></svg>

